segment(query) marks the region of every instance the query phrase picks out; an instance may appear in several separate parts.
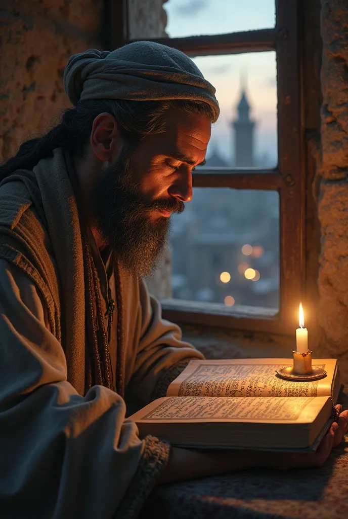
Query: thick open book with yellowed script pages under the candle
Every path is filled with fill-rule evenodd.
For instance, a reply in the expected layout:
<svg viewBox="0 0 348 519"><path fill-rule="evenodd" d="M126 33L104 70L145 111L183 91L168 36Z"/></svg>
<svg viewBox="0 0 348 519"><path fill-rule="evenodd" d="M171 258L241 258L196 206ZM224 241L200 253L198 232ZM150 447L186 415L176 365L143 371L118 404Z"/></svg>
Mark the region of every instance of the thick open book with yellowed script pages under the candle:
<svg viewBox="0 0 348 519"><path fill-rule="evenodd" d="M182 447L315 450L339 393L336 359L313 359L327 376L311 382L276 375L292 359L194 360L167 397L130 416L140 437Z"/></svg>

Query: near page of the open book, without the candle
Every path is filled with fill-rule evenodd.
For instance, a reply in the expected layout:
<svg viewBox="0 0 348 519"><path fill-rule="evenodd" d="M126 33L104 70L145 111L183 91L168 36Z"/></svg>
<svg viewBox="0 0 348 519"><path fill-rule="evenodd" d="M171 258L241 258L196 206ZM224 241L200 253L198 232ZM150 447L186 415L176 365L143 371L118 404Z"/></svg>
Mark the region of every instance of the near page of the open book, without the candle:
<svg viewBox="0 0 348 519"><path fill-rule="evenodd" d="M161 402L159 403L159 401ZM203 420L211 421L297 421L303 410L311 404L313 398L265 398L265 399L239 399L221 398L218 401L211 398L197 397L173 397L158 399L150 412L147 408L143 416L140 412L134 417L141 420ZM325 399L324 399L325 400ZM315 413L316 413L315 406ZM311 413L313 417L313 412ZM315 415L314 415L315 416ZM132 417L132 419L134 419Z"/></svg>

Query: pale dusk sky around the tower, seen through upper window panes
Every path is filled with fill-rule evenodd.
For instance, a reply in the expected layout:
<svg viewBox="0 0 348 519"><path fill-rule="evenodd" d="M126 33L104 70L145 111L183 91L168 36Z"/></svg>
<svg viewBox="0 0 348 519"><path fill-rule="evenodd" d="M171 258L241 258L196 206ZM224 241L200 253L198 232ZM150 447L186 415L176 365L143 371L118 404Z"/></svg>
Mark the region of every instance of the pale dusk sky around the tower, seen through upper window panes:
<svg viewBox="0 0 348 519"><path fill-rule="evenodd" d="M169 0L164 4L168 15L169 36L219 34L265 29L274 26L274 0ZM276 53L253 52L194 58L197 66L216 88L221 107L219 121L213 127L210 151L218 146L226 159L232 154L230 121L235 117L241 84L256 121L256 155L277 157ZM209 148L208 148L209 150ZM209 156L209 151L207 156Z"/></svg>

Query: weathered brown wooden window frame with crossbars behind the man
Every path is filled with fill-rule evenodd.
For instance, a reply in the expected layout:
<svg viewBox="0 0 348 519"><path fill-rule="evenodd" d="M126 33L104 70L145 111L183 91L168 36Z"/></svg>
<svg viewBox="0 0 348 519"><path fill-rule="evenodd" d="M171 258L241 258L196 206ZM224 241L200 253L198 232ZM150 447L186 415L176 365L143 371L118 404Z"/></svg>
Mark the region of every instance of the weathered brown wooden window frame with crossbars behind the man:
<svg viewBox="0 0 348 519"><path fill-rule="evenodd" d="M117 48L128 38L127 0L110 2L109 44ZM279 312L244 307L241 311L202 309L180 299L163 302L163 316L186 324L292 334L305 290L305 145L301 92L301 9L299 0L276 0L276 25L271 29L209 36L147 38L175 47L189 56L276 51L278 95L278 165L274 169L240 170L204 167L193 172L194 187L276 190L280 198Z"/></svg>

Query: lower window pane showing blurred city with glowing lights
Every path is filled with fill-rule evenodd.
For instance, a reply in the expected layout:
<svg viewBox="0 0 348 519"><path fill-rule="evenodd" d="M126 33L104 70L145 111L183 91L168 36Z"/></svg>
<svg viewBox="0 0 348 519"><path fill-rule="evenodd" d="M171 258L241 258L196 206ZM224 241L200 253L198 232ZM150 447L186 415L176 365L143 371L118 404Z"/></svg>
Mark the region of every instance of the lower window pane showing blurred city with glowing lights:
<svg viewBox="0 0 348 519"><path fill-rule="evenodd" d="M172 296L279 308L279 195L195 188L172 216Z"/></svg>

